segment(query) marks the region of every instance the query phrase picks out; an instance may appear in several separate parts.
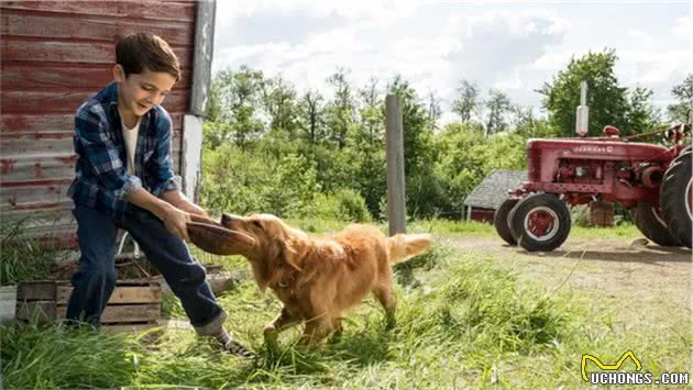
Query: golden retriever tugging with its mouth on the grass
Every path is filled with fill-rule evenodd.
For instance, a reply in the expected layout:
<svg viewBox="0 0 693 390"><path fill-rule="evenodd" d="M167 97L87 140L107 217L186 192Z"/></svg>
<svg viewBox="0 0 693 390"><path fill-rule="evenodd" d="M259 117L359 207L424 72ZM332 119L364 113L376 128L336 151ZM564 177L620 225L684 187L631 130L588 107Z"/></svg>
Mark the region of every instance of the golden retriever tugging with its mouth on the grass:
<svg viewBox="0 0 693 390"><path fill-rule="evenodd" d="M386 326L392 328L396 307L392 266L425 253L431 244L428 234L386 237L371 225L314 237L270 214L224 214L221 226L232 234L217 230L210 252L245 257L258 287L270 288L284 303L279 315L264 328L272 345L279 332L302 322L301 344L317 344L341 333L344 311L370 292L385 309ZM194 234L191 239L196 242Z"/></svg>

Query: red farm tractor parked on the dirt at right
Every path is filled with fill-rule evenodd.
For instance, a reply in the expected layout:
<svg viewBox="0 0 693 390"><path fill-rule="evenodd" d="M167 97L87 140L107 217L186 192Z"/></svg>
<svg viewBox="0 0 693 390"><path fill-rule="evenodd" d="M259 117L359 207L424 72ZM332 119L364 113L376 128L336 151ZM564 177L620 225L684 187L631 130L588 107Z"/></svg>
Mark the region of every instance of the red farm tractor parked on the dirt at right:
<svg viewBox="0 0 693 390"><path fill-rule="evenodd" d="M529 140L528 181L510 190L496 210L498 235L527 250L552 250L570 233L566 204L606 201L630 210L650 241L690 248L692 151L683 142L689 130L684 124L669 127L669 148L630 142L658 132L622 137L613 126L602 137Z"/></svg>

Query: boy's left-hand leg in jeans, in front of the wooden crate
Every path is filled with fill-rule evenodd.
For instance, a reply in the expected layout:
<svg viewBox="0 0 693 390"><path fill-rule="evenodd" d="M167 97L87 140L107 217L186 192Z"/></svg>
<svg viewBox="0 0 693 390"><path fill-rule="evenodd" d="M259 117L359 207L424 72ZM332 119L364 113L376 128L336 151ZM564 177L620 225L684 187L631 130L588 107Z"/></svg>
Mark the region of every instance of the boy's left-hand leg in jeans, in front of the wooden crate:
<svg viewBox="0 0 693 390"><path fill-rule="evenodd" d="M113 259L118 227L108 214L89 207L76 205L73 214L77 220L81 257L79 270L72 277L75 289L66 317L99 326L118 278Z"/></svg>

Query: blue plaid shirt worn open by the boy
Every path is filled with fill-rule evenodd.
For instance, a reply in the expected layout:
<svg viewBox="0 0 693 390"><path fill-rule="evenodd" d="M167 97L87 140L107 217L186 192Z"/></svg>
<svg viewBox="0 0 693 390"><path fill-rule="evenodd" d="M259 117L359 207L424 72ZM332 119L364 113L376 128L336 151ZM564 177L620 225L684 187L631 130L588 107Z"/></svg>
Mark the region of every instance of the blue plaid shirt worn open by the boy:
<svg viewBox="0 0 693 390"><path fill-rule="evenodd" d="M75 115L76 177L67 194L75 204L103 210L122 221L123 199L141 188L155 197L180 190L173 172L172 121L161 105L140 121L134 175L128 175L125 142L118 113L118 85L111 82L84 102Z"/></svg>

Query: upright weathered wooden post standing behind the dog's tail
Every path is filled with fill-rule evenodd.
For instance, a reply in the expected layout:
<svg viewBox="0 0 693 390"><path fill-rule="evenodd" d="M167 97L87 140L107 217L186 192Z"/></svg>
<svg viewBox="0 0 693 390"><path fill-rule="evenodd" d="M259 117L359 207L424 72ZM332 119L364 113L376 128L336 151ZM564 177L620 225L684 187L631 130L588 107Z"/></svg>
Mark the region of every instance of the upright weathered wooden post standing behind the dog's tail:
<svg viewBox="0 0 693 390"><path fill-rule="evenodd" d="M405 226L405 171L404 130L399 98L388 94L385 98L387 147L387 221L389 235L406 233Z"/></svg>

